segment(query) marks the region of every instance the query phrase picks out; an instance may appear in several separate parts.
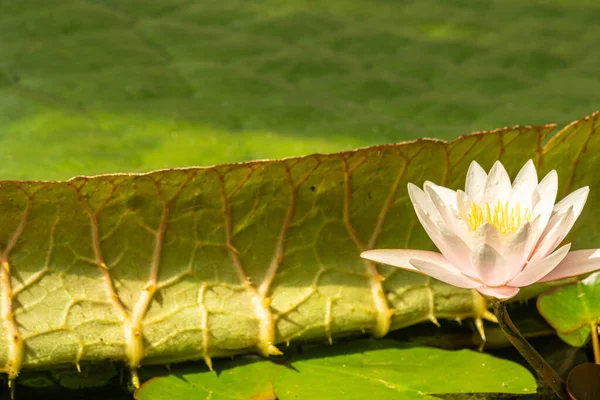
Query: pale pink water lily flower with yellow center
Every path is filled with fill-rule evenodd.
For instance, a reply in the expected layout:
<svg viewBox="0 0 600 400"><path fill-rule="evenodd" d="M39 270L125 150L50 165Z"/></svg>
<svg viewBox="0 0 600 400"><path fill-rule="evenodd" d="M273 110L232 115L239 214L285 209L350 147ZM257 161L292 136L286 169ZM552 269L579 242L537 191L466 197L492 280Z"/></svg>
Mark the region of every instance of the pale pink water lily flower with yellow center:
<svg viewBox="0 0 600 400"><path fill-rule="evenodd" d="M600 269L600 250L556 250L579 217L589 188L555 204L558 176L538 183L529 160L510 181L497 161L489 174L476 162L465 190L425 182L409 184L419 221L440 253L422 250L369 250L361 257L418 272L496 300L519 288Z"/></svg>

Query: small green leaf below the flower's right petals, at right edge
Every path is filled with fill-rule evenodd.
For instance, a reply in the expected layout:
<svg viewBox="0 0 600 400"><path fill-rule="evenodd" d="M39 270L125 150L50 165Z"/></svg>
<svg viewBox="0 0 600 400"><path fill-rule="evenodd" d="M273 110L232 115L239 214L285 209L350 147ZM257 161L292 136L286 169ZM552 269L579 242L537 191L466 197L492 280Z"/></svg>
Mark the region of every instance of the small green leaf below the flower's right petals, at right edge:
<svg viewBox="0 0 600 400"><path fill-rule="evenodd" d="M540 314L572 346L583 346L600 321L600 273L549 290L538 297Z"/></svg>

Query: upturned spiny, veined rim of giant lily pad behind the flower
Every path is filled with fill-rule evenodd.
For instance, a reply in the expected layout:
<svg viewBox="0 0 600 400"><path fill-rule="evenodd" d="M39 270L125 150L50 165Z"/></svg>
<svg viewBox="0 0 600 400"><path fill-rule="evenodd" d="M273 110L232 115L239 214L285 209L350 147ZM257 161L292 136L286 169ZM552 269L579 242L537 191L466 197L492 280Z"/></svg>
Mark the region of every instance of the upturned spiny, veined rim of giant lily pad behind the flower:
<svg viewBox="0 0 600 400"><path fill-rule="evenodd" d="M501 159L514 175L533 158L559 170L563 194L600 188L579 168L598 167L589 152L600 147L598 115L546 148L552 125L210 168L1 182L0 368L12 380L23 368L112 359L135 379L142 363L210 365L216 356L277 354L276 344L297 339L480 321L485 301L472 291L359 253L430 249L406 184L460 187L474 159L488 168ZM587 229L575 235L593 240Z"/></svg>

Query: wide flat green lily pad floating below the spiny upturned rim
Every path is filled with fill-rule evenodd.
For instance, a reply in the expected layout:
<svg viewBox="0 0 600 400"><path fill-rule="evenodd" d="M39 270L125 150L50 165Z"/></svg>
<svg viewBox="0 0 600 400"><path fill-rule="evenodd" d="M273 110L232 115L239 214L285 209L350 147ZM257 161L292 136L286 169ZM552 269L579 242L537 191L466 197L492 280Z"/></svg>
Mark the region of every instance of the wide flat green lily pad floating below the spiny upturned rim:
<svg viewBox="0 0 600 400"><path fill-rule="evenodd" d="M197 372L199 368L182 368L152 379L136 392L136 398L408 400L433 399L433 394L536 390L533 376L513 362L470 350L447 351L391 340L314 346L292 356L286 365L234 360L217 364L218 370L226 368L219 374L203 368L204 372Z"/></svg>

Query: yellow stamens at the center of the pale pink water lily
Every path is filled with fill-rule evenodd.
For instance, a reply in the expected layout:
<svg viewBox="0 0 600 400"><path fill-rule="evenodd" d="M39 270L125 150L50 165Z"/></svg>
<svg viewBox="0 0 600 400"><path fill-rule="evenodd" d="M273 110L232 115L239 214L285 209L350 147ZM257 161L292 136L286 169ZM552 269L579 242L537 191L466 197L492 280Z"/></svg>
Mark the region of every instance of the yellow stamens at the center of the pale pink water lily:
<svg viewBox="0 0 600 400"><path fill-rule="evenodd" d="M484 223L492 224L501 234L515 233L521 224L529 221L531 210L525 209L521 212L521 205L510 207L508 201L498 202L492 207L489 203L483 205L471 203L471 210L467 216L469 229L476 231Z"/></svg>

